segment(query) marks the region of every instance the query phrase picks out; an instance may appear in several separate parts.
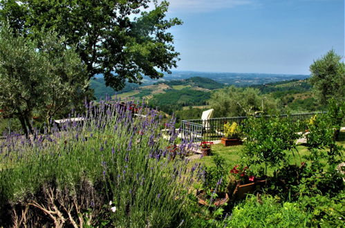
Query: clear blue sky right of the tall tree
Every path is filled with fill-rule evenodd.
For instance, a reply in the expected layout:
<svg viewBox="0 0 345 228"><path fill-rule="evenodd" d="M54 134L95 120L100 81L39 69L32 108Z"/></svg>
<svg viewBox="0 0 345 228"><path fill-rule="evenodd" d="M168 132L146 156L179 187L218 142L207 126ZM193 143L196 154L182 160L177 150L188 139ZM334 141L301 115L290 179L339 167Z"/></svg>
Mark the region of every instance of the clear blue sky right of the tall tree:
<svg viewBox="0 0 345 228"><path fill-rule="evenodd" d="M170 0L177 70L309 74L344 56L344 0Z"/></svg>

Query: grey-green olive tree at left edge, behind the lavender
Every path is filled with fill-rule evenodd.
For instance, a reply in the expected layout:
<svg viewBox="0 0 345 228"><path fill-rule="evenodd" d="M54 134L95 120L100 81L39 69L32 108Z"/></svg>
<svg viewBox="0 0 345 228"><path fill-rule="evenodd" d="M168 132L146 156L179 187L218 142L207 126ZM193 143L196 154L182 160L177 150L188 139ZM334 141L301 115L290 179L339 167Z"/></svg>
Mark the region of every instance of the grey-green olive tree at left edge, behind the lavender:
<svg viewBox="0 0 345 228"><path fill-rule="evenodd" d="M0 109L18 117L24 133L32 133L32 113L49 120L81 97L87 86L84 66L73 48L65 49L48 34L38 43L2 26L0 30ZM79 99L82 101L82 99Z"/></svg>

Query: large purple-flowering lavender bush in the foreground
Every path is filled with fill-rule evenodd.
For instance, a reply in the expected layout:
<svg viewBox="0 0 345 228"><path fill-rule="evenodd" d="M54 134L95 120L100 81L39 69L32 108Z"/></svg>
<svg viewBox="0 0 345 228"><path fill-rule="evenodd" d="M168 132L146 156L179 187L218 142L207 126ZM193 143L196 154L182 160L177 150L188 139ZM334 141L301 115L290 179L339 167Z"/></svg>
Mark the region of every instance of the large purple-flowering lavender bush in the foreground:
<svg viewBox="0 0 345 228"><path fill-rule="evenodd" d="M86 104L78 117L0 141L0 223L7 225L187 225L188 194L198 178L187 170L186 143L162 139L156 111L137 104ZM139 108L138 108L139 107ZM174 159L172 159L174 158Z"/></svg>

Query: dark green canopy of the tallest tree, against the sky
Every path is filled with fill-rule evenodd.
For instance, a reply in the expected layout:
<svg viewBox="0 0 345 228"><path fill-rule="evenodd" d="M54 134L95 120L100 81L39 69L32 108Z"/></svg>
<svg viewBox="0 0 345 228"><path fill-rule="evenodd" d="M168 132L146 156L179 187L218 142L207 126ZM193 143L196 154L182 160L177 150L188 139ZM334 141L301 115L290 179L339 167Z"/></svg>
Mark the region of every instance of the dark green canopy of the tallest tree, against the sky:
<svg viewBox="0 0 345 228"><path fill-rule="evenodd" d="M170 73L178 55L169 28L179 19L165 19L169 3L162 1L149 12L151 0L3 0L0 19L27 37L54 30L75 46L86 64L88 78L103 74L107 86L117 90L142 75L160 78Z"/></svg>

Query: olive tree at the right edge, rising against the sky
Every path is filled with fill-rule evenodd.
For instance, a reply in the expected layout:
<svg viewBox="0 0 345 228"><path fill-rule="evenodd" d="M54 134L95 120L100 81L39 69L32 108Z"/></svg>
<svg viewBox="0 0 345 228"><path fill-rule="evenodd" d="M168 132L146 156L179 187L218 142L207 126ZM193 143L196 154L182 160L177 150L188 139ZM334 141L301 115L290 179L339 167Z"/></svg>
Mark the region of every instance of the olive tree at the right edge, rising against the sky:
<svg viewBox="0 0 345 228"><path fill-rule="evenodd" d="M310 84L313 85L321 103L326 103L332 97L344 102L345 64L342 56L337 55L334 50L330 50L321 59L317 59L310 65L310 72Z"/></svg>

